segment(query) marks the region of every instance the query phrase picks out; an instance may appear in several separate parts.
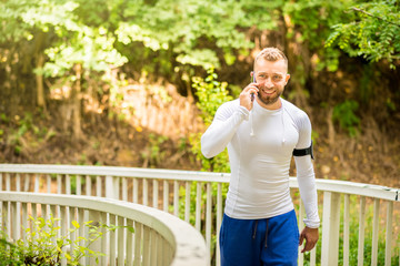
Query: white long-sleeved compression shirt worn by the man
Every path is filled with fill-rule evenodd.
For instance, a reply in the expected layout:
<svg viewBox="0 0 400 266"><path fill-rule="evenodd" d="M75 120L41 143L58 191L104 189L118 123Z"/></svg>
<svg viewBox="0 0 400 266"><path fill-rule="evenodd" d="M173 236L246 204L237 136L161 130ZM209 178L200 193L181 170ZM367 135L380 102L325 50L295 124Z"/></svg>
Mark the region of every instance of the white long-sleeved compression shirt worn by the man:
<svg viewBox="0 0 400 266"><path fill-rule="evenodd" d="M308 115L281 99L279 110L253 103L249 112L239 99L223 103L201 137L201 151L213 157L228 146L231 181L224 213L232 218L269 218L293 209L289 168L293 149L311 144ZM308 227L319 227L311 156L294 156Z"/></svg>

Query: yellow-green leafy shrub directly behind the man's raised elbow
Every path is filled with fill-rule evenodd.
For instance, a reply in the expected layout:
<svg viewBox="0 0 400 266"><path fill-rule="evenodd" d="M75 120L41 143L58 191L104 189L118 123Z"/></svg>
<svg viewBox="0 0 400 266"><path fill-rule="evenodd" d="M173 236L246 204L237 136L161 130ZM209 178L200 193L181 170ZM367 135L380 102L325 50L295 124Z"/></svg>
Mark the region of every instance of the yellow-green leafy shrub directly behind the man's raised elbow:
<svg viewBox="0 0 400 266"><path fill-rule="evenodd" d="M207 71L208 76L206 79L196 76L193 78L193 88L196 89L196 95L199 98L197 106L201 111L201 119L206 126L209 126L218 108L230 100L232 96L229 95L227 90L228 83L219 82L217 73L211 68ZM230 172L229 158L227 150L212 158L206 158L201 154L201 133L192 134L189 139L192 145L192 152L197 158L201 162L203 171L211 172Z"/></svg>

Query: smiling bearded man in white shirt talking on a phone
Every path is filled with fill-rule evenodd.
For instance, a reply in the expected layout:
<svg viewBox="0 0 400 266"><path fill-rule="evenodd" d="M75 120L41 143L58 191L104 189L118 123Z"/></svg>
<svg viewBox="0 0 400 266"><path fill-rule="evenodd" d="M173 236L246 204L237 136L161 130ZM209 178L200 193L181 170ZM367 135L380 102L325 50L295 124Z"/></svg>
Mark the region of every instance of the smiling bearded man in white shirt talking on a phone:
<svg viewBox="0 0 400 266"><path fill-rule="evenodd" d="M220 231L222 266L297 265L298 246L311 250L318 238L317 190L308 115L280 98L290 75L277 48L254 60L253 82L239 99L223 103L201 137L212 157L228 146L231 181ZM294 155L306 227L299 236L290 197Z"/></svg>

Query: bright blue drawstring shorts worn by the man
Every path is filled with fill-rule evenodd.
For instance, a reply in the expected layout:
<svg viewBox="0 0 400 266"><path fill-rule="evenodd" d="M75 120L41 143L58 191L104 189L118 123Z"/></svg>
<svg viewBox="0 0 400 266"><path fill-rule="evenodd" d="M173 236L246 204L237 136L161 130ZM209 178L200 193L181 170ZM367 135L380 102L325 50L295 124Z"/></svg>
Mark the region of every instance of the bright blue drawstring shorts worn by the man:
<svg viewBox="0 0 400 266"><path fill-rule="evenodd" d="M236 219L223 215L222 266L297 265L299 227L294 209L271 218Z"/></svg>

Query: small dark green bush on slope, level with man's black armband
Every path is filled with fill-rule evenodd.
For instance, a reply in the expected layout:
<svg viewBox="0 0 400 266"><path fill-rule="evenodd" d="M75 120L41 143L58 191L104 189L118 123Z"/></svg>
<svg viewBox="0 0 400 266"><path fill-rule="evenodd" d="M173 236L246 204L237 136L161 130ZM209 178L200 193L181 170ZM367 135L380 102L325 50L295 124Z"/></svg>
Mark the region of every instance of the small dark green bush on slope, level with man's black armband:
<svg viewBox="0 0 400 266"><path fill-rule="evenodd" d="M358 108L358 102L347 100L333 109L332 120L339 122L340 127L346 130L350 136L358 134L358 126L360 124L360 119L356 114Z"/></svg>

